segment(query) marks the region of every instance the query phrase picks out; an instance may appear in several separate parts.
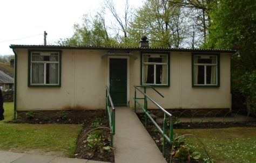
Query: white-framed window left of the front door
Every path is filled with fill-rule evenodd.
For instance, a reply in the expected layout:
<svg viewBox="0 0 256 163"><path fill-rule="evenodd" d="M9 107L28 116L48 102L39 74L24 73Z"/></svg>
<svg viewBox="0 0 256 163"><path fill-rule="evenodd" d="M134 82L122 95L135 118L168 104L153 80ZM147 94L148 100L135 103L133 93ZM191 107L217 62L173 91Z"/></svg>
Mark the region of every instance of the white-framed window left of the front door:
<svg viewBox="0 0 256 163"><path fill-rule="evenodd" d="M60 51L30 51L29 86L60 86Z"/></svg>

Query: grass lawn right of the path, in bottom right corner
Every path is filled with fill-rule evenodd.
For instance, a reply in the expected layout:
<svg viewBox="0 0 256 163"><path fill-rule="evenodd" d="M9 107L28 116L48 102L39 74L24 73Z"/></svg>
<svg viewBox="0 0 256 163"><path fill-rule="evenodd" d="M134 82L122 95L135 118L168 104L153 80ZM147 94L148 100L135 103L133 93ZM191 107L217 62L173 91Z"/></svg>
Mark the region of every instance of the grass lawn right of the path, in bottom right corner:
<svg viewBox="0 0 256 163"><path fill-rule="evenodd" d="M256 128L234 127L227 129L177 129L174 133L194 134L203 141L214 162L255 162ZM186 137L186 145L203 154L196 138Z"/></svg>

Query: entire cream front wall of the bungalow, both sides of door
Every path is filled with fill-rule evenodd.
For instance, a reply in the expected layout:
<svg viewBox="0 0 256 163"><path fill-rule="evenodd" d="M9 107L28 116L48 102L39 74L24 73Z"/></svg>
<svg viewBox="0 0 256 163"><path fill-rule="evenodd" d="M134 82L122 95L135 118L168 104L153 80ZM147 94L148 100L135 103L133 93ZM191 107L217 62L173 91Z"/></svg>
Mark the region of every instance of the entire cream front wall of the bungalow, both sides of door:
<svg viewBox="0 0 256 163"><path fill-rule="evenodd" d="M61 87L28 87L28 50L17 52L17 110L104 109L108 57L99 50L63 50ZM140 52L129 59L130 107L140 85ZM147 93L166 109L231 108L230 55L220 54L220 87L192 87L191 53L171 52L170 87ZM139 95L139 93L137 93ZM143 103L143 101L142 101ZM149 108L156 108L149 102Z"/></svg>

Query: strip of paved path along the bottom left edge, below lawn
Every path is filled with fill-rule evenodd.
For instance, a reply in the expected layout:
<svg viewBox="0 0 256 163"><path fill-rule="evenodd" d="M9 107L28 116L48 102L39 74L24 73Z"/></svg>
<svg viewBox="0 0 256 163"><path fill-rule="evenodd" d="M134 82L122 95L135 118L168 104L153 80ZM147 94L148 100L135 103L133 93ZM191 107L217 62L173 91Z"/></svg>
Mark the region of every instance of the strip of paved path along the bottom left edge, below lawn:
<svg viewBox="0 0 256 163"><path fill-rule="evenodd" d="M107 162L54 157L50 155L0 151L0 163L107 163Z"/></svg>

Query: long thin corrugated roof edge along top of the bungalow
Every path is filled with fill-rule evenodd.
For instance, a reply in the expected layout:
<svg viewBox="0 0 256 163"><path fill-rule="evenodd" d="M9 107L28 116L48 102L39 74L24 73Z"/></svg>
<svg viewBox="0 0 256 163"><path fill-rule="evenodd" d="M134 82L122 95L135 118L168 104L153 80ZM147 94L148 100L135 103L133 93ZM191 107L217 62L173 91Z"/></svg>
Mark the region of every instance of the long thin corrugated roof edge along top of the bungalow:
<svg viewBox="0 0 256 163"><path fill-rule="evenodd" d="M103 50L129 50L129 51L178 51L178 52L225 52L235 53L232 49L202 49L202 48L170 48L170 47L105 47L105 46L60 46L60 45L10 45L10 48L30 49L103 49Z"/></svg>

